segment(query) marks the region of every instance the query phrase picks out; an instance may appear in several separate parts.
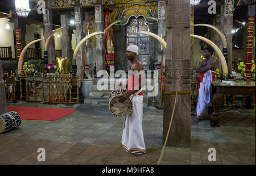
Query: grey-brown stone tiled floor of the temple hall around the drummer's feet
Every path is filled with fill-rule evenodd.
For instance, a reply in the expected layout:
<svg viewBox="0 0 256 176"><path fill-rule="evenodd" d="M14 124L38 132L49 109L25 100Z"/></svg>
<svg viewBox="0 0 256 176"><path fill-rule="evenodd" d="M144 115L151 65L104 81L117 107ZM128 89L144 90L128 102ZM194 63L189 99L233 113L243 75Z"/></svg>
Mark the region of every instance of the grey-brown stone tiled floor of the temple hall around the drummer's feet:
<svg viewBox="0 0 256 176"><path fill-rule="evenodd" d="M9 106L77 110L56 121L22 120L18 128L0 134L0 164L154 165L159 159L163 110L155 107L143 108L146 153L133 157L121 147L123 119L114 118L108 105L20 102ZM209 119L192 123L191 147L166 146L160 164L255 164L255 110L226 109L221 115L220 127L210 127ZM37 160L39 148L46 149L45 162ZM208 161L209 148L216 149L216 161Z"/></svg>

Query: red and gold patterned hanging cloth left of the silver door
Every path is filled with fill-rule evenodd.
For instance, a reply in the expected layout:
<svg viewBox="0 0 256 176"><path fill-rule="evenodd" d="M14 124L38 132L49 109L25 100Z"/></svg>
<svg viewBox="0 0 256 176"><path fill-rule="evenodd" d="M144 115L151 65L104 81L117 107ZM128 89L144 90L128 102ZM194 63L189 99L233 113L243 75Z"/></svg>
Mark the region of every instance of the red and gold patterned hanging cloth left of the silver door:
<svg viewBox="0 0 256 176"><path fill-rule="evenodd" d="M110 12L106 11L104 13L104 29L111 24ZM106 67L110 69L110 65L114 66L115 53L114 53L114 37L113 37L113 28L110 27L108 31L105 32L104 39L105 47L105 58L106 58Z"/></svg>

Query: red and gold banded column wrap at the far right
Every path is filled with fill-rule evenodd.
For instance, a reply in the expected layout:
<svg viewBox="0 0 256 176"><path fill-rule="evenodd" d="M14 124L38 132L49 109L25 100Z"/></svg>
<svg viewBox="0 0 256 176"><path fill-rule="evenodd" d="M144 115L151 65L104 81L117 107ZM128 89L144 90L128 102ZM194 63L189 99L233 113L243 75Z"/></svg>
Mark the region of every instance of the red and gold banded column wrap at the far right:
<svg viewBox="0 0 256 176"><path fill-rule="evenodd" d="M246 61L245 61L245 80L251 81L251 52L253 49L253 30L254 17L248 18L247 27L247 47L246 47Z"/></svg>

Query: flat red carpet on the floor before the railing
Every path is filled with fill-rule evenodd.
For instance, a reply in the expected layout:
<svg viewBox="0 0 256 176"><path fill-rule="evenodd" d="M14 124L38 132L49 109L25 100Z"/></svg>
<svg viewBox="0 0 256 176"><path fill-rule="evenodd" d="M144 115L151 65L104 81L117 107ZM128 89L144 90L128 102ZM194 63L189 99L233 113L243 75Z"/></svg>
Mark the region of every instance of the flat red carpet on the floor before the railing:
<svg viewBox="0 0 256 176"><path fill-rule="evenodd" d="M40 107L7 107L7 110L18 112L21 119L55 121L71 114L74 110Z"/></svg>

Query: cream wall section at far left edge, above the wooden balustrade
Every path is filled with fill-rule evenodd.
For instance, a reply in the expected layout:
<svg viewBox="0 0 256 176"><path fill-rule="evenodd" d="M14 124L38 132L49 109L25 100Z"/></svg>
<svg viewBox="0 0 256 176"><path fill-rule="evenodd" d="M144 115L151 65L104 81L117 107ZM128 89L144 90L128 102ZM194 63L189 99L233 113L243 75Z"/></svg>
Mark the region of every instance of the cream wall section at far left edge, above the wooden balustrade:
<svg viewBox="0 0 256 176"><path fill-rule="evenodd" d="M8 23L9 19L0 18L0 47L11 46L12 57L15 58L15 48L14 48L14 34L13 28L14 23ZM9 30L6 29L6 23L9 24Z"/></svg>

